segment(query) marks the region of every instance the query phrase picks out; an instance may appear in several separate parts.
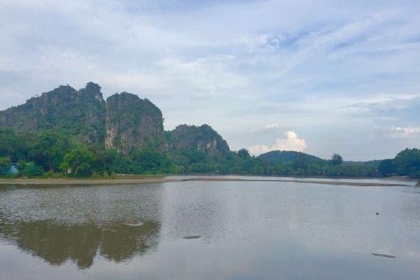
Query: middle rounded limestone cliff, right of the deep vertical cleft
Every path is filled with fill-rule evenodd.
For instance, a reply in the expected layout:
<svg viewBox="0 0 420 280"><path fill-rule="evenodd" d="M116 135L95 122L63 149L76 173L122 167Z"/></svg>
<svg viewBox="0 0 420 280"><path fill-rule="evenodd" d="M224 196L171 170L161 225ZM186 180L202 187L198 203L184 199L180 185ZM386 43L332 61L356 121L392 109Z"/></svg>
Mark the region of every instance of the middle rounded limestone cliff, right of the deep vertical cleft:
<svg viewBox="0 0 420 280"><path fill-rule="evenodd" d="M162 136L162 112L148 99L127 92L106 99L106 148L128 155L148 141L160 141Z"/></svg>

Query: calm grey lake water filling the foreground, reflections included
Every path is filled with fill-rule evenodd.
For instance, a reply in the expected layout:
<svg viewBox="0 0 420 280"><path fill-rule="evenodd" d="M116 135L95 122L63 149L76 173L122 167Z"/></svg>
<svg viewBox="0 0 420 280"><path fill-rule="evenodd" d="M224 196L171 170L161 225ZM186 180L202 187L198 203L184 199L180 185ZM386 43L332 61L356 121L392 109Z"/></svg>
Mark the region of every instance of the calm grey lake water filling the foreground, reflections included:
<svg viewBox="0 0 420 280"><path fill-rule="evenodd" d="M413 186L0 186L0 279L419 275L420 188Z"/></svg>

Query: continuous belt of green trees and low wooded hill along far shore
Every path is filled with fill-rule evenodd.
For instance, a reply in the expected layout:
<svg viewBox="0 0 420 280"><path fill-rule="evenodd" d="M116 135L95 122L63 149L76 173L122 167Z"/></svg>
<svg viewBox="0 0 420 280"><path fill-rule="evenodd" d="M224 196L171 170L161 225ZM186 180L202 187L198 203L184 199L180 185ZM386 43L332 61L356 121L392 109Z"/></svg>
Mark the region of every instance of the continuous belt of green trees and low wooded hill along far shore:
<svg viewBox="0 0 420 280"><path fill-rule="evenodd" d="M393 160L372 165L343 164L334 154L322 160L297 152L276 160L275 153L253 157L241 149L227 154L205 153L197 146L165 149L159 141L150 141L130 155L104 146L87 145L76 137L57 131L17 133L0 130L0 173L11 162L18 162L19 176L113 176L113 174L261 174L278 176L412 176L420 177L420 151L406 149ZM293 156L290 156L292 155ZM281 157L280 157L281 159Z"/></svg>

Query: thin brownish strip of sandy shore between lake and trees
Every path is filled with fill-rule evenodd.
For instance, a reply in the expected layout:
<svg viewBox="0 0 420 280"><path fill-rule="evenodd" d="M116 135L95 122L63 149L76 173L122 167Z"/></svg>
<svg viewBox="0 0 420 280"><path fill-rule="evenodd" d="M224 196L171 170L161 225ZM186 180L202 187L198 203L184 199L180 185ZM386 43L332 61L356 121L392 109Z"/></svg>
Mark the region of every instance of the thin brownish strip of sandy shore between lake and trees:
<svg viewBox="0 0 420 280"><path fill-rule="evenodd" d="M322 185L339 186L365 186L365 187L395 187L409 186L403 183L366 183L351 181L322 181L302 179L246 179L226 178L224 176L196 176L193 178L177 178L172 176L119 176L116 179L0 179L0 185L115 185L130 183L167 183L181 181L251 181L251 182L283 182L283 183L314 183Z"/></svg>

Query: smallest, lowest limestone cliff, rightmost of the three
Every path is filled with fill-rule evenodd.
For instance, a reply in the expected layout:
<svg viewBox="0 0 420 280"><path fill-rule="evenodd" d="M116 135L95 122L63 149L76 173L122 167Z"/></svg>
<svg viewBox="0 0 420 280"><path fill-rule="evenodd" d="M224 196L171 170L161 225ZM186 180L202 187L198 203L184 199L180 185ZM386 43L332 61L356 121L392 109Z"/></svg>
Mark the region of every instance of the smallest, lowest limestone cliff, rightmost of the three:
<svg viewBox="0 0 420 280"><path fill-rule="evenodd" d="M167 146L169 149L197 149L208 156L225 158L230 152L228 143L209 125L179 125L169 132Z"/></svg>

